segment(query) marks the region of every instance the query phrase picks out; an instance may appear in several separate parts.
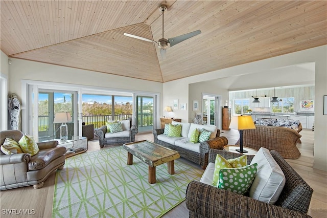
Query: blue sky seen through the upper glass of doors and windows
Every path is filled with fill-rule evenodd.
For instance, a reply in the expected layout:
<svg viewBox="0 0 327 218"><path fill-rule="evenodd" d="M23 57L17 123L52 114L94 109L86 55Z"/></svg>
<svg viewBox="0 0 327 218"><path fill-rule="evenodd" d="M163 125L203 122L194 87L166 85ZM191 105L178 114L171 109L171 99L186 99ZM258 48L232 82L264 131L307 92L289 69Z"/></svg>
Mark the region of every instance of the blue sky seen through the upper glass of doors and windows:
<svg viewBox="0 0 327 218"><path fill-rule="evenodd" d="M48 94L39 94L39 101L44 101L48 99ZM71 101L72 100L72 94L71 93L54 93L54 102L55 103L63 103L64 99L66 101ZM98 103L107 103L111 104L111 96L105 96L105 95L82 95L82 101L86 103L94 103L95 101ZM131 96L115 96L115 103L125 104L126 102L133 103L133 98ZM149 103L152 102L150 98L144 98L143 103Z"/></svg>

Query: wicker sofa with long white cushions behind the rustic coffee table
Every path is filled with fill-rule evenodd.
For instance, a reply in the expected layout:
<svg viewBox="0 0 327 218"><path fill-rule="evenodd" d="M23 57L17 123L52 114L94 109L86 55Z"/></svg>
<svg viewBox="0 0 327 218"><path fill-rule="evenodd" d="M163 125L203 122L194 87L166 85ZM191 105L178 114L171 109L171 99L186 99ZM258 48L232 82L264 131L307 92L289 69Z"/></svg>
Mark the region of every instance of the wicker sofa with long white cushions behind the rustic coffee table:
<svg viewBox="0 0 327 218"><path fill-rule="evenodd" d="M210 148L223 149L228 144L226 137L219 137L220 129L214 125L200 125L195 123L183 123L172 121L172 124L181 124L181 137L169 137L164 135L164 128L153 130L154 142L179 152L179 155L205 168L208 163ZM212 132L209 140L205 142L190 142L191 133L195 128L202 128Z"/></svg>

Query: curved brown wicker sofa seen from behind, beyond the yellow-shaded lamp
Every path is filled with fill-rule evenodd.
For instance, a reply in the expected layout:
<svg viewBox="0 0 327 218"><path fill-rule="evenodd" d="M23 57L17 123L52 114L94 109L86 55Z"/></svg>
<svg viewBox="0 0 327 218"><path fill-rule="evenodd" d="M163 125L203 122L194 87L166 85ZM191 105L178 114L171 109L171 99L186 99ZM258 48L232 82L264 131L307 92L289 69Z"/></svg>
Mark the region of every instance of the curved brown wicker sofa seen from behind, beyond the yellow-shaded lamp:
<svg viewBox="0 0 327 218"><path fill-rule="evenodd" d="M301 135L296 130L279 126L255 125L255 127L255 129L243 130L243 146L255 150L259 150L260 147L276 150L287 159L300 157L296 141ZM240 145L240 140L236 144Z"/></svg>

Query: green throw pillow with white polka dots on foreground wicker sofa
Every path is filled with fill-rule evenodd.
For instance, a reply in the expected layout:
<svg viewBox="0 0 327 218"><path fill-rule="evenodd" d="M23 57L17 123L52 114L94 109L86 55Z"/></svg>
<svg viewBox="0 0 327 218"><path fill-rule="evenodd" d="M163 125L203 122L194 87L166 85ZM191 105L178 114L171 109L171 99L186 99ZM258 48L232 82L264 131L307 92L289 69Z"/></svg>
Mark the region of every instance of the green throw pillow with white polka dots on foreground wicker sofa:
<svg viewBox="0 0 327 218"><path fill-rule="evenodd" d="M256 175L257 163L241 168L221 169L219 171L218 188L245 194L252 185Z"/></svg>

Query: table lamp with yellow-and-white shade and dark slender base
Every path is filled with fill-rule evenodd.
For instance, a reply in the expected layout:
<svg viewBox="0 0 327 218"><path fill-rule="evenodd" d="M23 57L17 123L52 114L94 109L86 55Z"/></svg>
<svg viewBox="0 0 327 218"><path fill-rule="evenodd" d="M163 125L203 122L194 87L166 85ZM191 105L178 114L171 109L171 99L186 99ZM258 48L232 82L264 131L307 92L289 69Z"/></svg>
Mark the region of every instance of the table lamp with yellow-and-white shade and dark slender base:
<svg viewBox="0 0 327 218"><path fill-rule="evenodd" d="M243 149L243 130L254 129L255 125L251 116L232 116L229 128L238 129L240 132L240 149L236 149L240 153L246 153L247 150Z"/></svg>

